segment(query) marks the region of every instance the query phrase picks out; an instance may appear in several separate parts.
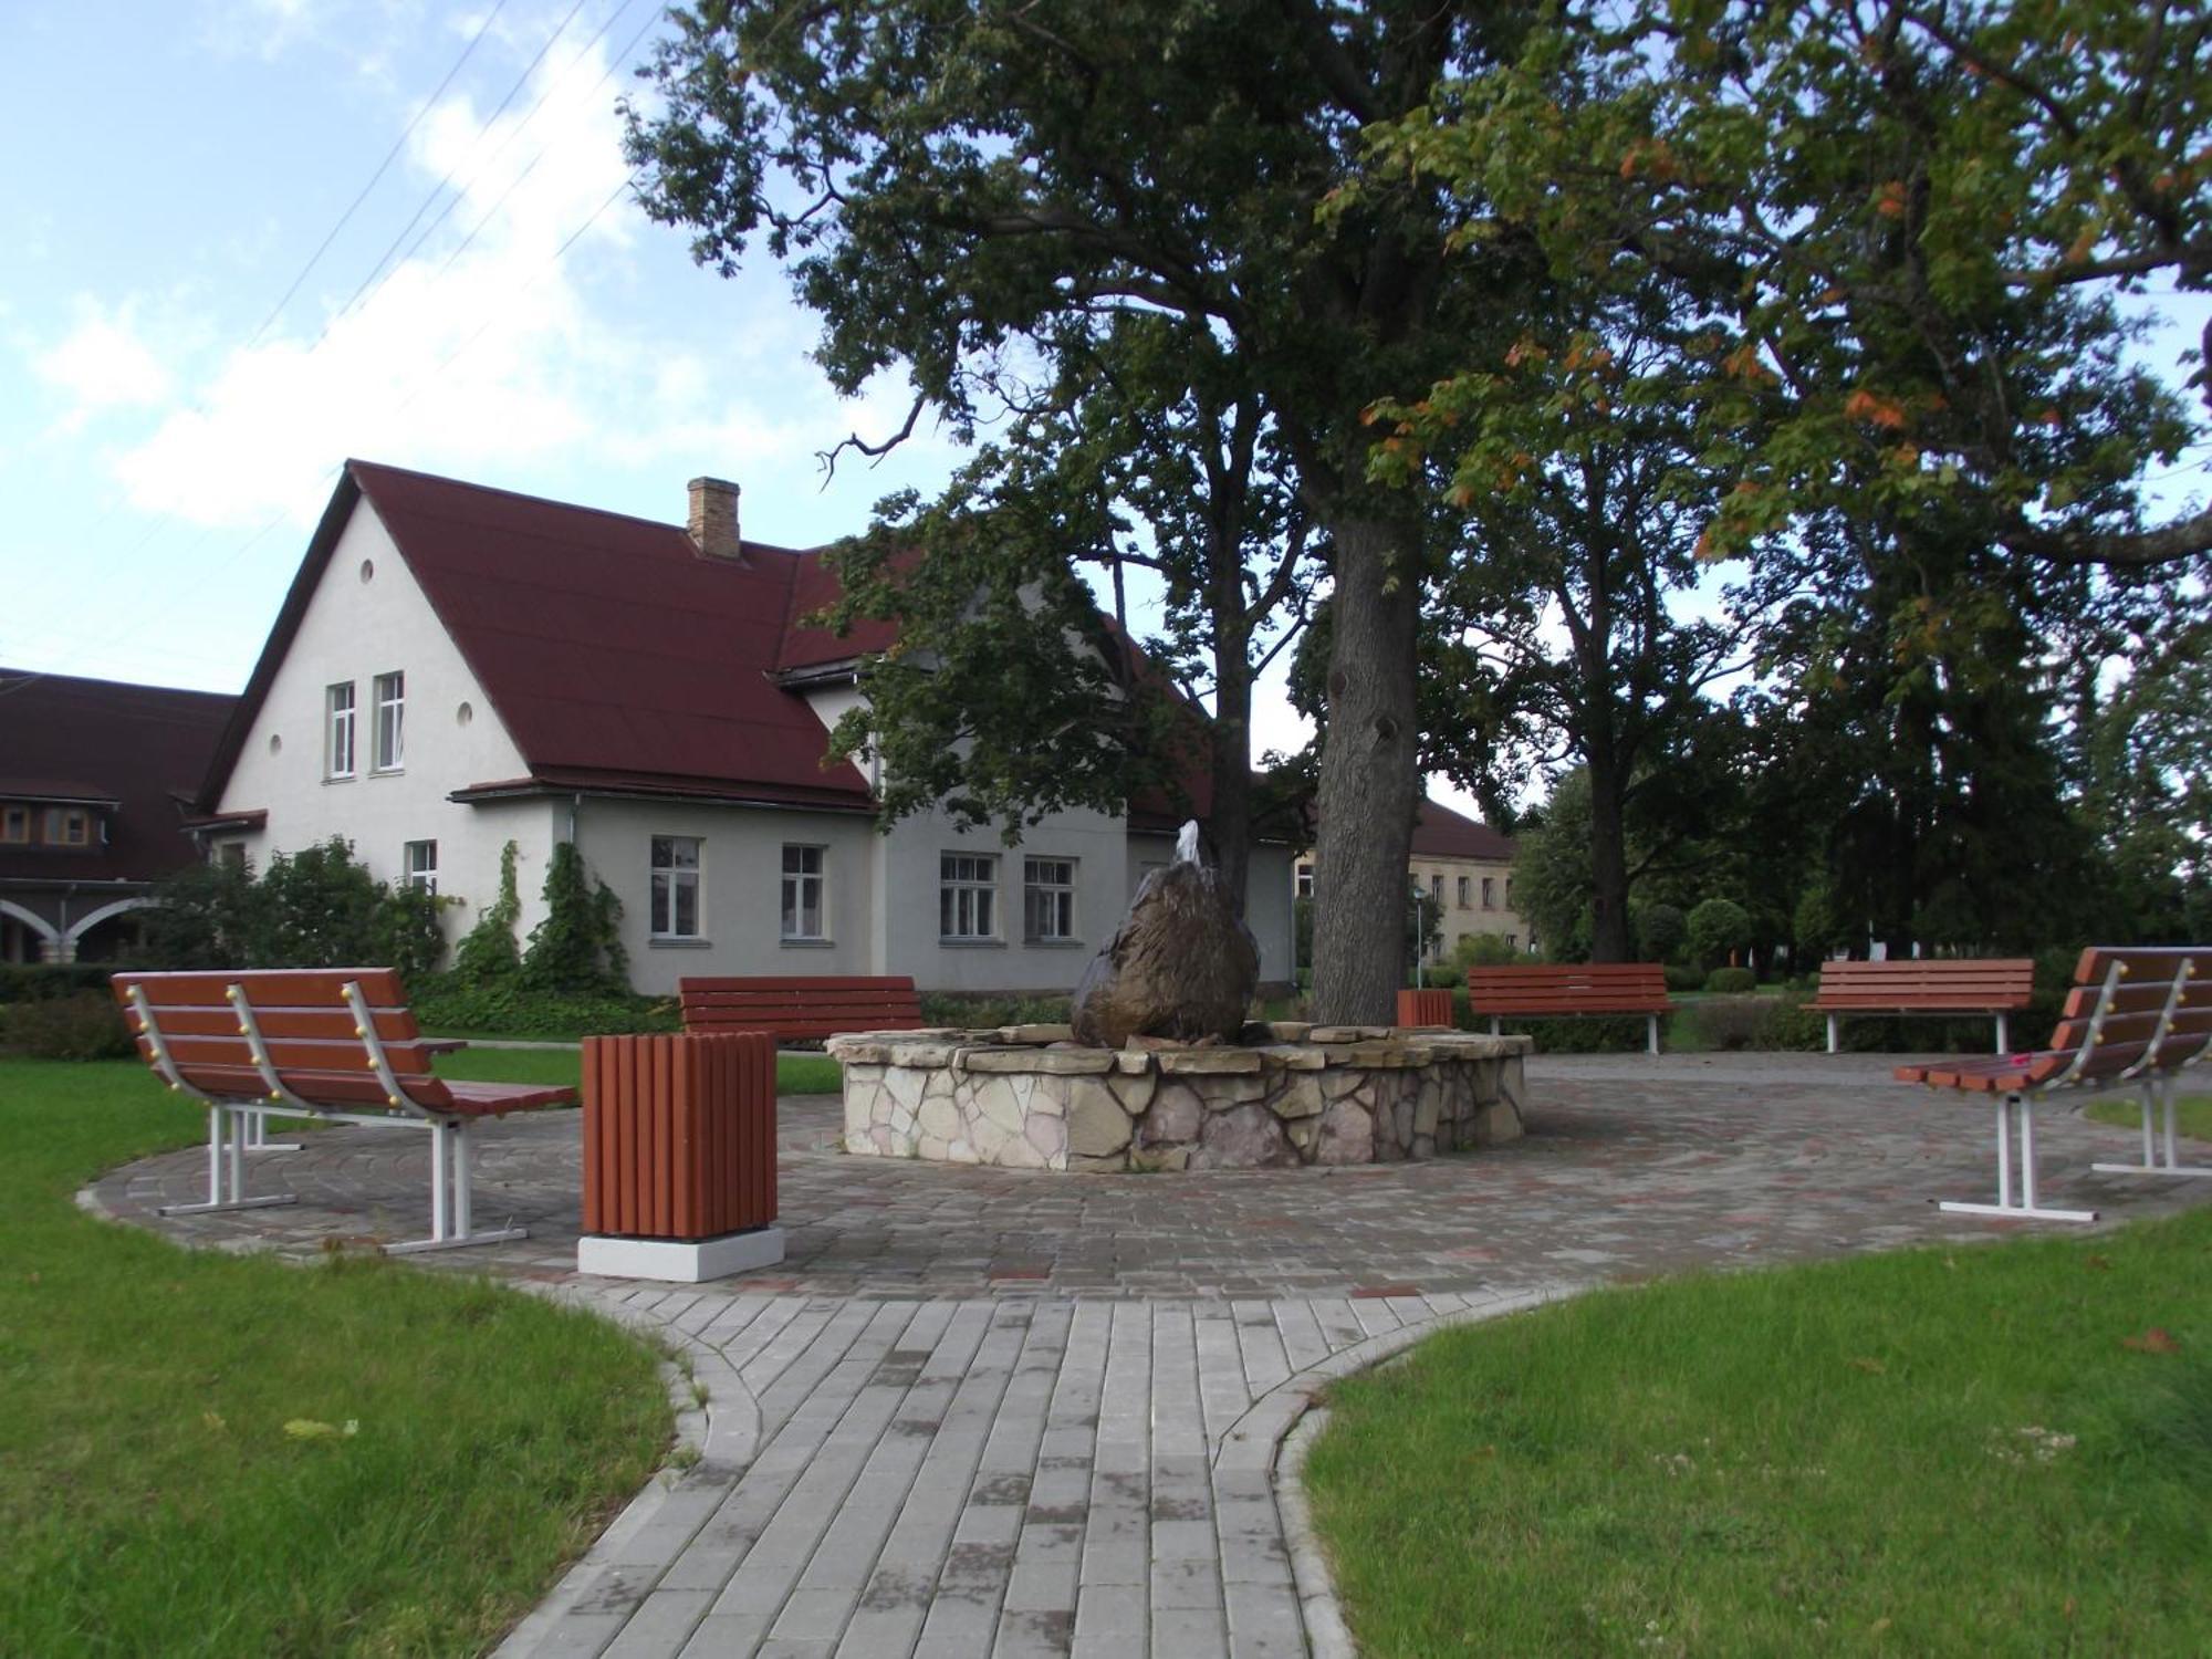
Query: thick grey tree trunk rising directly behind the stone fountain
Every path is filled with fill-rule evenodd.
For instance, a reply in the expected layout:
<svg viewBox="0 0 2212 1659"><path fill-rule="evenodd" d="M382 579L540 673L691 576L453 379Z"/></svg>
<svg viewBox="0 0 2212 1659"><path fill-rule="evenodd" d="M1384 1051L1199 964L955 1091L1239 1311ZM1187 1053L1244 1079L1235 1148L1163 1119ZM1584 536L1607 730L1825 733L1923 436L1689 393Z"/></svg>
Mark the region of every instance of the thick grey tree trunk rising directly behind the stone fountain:
<svg viewBox="0 0 2212 1659"><path fill-rule="evenodd" d="M1420 571L1402 524L1338 518L1329 533L1336 584L1314 860L1314 1015L1325 1024L1391 1024L1405 980L1420 799Z"/></svg>

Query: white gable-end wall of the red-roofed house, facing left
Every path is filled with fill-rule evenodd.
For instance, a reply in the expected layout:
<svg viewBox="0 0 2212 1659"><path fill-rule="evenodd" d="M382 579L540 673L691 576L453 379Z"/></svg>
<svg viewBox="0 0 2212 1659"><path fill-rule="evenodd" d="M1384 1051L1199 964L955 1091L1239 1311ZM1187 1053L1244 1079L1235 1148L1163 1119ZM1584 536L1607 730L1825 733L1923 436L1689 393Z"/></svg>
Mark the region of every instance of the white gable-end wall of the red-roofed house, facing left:
<svg viewBox="0 0 2212 1659"><path fill-rule="evenodd" d="M405 754L374 772L376 675L407 675ZM354 776L325 779L325 690L354 686ZM467 721L460 710L467 708ZM398 880L409 841L438 843L438 891L462 898L447 916L460 938L500 889L500 847L518 843L515 883L526 936L544 916L540 887L555 810L544 801L458 805L469 783L522 776L522 754L491 699L456 650L422 588L363 500L307 602L299 635L276 666L239 750L221 812L268 810L268 830L246 836L257 865L345 836L383 880Z"/></svg>

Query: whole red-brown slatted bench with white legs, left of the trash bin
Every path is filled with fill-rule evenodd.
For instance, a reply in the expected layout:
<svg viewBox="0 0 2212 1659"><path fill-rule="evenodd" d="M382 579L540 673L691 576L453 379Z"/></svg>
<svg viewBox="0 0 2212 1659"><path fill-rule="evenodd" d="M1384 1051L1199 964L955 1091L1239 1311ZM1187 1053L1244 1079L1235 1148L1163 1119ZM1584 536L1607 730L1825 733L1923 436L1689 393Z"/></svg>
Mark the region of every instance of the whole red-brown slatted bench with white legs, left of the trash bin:
<svg viewBox="0 0 2212 1659"><path fill-rule="evenodd" d="M451 1042L425 1040L392 969L234 969L117 973L115 1000L146 1064L208 1106L208 1201L161 1214L257 1210L294 1194L246 1194L248 1119L327 1117L427 1128L429 1239L387 1254L526 1239L478 1232L469 1208L469 1126L480 1117L573 1106L573 1088L467 1084L431 1073Z"/></svg>

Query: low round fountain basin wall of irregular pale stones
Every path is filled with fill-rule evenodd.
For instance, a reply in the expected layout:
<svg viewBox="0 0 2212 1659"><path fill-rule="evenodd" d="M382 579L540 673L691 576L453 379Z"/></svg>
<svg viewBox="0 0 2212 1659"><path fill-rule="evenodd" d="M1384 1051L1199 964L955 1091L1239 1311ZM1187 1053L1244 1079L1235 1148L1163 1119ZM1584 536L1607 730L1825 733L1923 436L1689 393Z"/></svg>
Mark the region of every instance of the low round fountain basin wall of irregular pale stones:
<svg viewBox="0 0 2212 1659"><path fill-rule="evenodd" d="M1068 1026L852 1031L845 1150L1020 1170L1391 1164L1522 1133L1528 1037L1250 1024L1241 1046Z"/></svg>

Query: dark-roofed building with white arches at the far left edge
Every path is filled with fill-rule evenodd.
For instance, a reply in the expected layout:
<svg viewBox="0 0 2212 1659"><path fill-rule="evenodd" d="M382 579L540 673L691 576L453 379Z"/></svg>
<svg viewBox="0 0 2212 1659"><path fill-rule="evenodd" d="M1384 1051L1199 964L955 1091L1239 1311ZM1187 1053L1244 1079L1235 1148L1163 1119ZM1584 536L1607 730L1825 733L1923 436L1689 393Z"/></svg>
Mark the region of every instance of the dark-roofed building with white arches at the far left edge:
<svg viewBox="0 0 2212 1659"><path fill-rule="evenodd" d="M0 962L111 962L184 827L234 697L0 668Z"/></svg>

